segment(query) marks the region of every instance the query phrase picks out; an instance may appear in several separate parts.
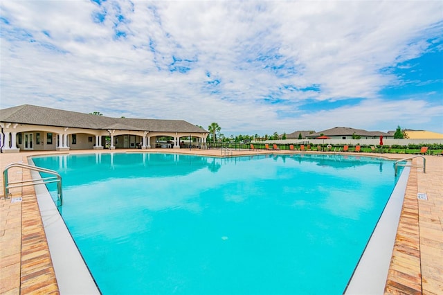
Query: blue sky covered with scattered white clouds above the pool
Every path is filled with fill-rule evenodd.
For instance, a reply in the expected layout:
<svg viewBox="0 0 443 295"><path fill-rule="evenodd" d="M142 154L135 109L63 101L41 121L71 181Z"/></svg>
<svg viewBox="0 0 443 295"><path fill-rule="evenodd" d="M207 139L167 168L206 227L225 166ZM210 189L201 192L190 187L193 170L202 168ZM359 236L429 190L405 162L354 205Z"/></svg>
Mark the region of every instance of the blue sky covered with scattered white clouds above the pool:
<svg viewBox="0 0 443 295"><path fill-rule="evenodd" d="M443 133L443 1L1 1L0 26L2 109Z"/></svg>

